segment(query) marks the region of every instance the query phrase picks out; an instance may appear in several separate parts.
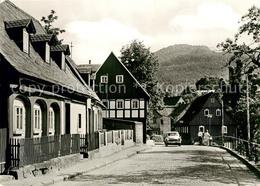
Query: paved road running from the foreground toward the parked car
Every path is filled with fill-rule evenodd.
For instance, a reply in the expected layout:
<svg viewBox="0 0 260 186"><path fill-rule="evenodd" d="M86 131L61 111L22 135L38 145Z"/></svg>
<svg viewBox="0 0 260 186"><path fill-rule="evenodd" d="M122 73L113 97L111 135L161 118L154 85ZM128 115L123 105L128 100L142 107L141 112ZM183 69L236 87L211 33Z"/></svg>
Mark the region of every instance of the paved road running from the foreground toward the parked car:
<svg viewBox="0 0 260 186"><path fill-rule="evenodd" d="M214 147L156 146L59 185L260 185L226 151Z"/></svg>

